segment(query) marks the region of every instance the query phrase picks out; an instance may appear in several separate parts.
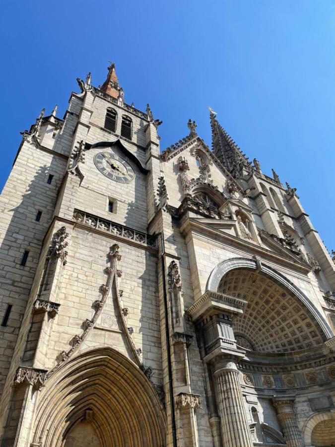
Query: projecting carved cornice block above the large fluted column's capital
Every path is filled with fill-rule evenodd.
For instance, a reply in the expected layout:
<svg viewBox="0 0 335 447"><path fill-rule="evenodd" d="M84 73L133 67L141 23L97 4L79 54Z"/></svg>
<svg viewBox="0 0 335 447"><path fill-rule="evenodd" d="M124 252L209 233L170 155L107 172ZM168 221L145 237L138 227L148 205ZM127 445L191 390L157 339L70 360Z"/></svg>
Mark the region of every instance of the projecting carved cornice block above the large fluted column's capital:
<svg viewBox="0 0 335 447"><path fill-rule="evenodd" d="M215 314L239 315L247 301L208 290L187 310L193 321Z"/></svg>

